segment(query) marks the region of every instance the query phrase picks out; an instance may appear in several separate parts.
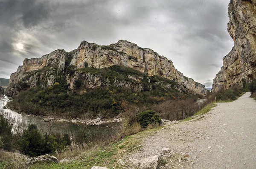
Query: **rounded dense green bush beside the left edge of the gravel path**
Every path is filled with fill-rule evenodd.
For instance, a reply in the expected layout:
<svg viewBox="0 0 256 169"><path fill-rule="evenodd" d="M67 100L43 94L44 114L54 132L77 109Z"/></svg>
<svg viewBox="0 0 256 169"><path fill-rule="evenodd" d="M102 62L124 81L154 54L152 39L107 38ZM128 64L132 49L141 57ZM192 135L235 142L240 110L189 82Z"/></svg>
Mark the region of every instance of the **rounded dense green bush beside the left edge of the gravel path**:
<svg viewBox="0 0 256 169"><path fill-rule="evenodd" d="M152 110L139 113L137 120L143 128L146 128L149 124L160 125L162 123L159 115L156 115Z"/></svg>

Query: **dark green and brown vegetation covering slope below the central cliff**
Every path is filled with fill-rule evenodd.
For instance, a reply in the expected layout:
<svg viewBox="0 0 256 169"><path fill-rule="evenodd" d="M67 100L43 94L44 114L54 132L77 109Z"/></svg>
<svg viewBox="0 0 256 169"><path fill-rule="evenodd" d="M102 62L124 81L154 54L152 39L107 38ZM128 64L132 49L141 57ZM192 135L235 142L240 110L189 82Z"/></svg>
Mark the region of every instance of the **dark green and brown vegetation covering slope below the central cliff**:
<svg viewBox="0 0 256 169"><path fill-rule="evenodd" d="M104 117L114 117L124 110L124 103L149 106L166 100L184 100L191 96L186 92L181 93L175 88L167 88L157 83L160 81L173 87L177 86L177 83L172 80L158 76L149 77L128 67L111 66L105 69L88 67L75 70L74 67L68 66L66 69L66 74L72 75L75 72L100 74L103 79L110 81L110 86L103 86L96 90L90 90L84 95L79 95L68 89L64 77L59 77L53 86L21 91L13 98L12 102L9 102L8 106L32 115L59 115L76 118L81 117L84 113L89 113L92 117L98 114ZM136 83L143 87L143 91L134 92L130 88L114 86L114 80L131 82L128 75L141 79ZM76 81L77 89L81 87L81 83L82 81Z"/></svg>

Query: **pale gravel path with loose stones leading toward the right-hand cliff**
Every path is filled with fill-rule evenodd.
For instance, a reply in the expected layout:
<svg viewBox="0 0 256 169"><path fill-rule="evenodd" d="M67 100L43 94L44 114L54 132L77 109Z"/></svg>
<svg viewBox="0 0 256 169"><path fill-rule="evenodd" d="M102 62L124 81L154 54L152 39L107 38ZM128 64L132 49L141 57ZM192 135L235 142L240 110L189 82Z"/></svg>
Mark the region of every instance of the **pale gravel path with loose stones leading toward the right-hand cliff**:
<svg viewBox="0 0 256 169"><path fill-rule="evenodd" d="M199 120L182 122L143 138L141 150L125 159L160 155L170 169L256 169L256 101L247 92L218 103Z"/></svg>

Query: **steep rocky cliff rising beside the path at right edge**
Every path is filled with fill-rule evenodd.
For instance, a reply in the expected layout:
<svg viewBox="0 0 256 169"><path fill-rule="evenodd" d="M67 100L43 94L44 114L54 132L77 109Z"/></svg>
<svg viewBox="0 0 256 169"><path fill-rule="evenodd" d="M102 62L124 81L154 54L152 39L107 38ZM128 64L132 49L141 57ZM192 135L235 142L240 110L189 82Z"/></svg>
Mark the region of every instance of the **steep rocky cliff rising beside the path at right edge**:
<svg viewBox="0 0 256 169"><path fill-rule="evenodd" d="M228 14L227 30L235 46L223 58L223 67L213 80L213 92L256 79L256 0L231 0Z"/></svg>

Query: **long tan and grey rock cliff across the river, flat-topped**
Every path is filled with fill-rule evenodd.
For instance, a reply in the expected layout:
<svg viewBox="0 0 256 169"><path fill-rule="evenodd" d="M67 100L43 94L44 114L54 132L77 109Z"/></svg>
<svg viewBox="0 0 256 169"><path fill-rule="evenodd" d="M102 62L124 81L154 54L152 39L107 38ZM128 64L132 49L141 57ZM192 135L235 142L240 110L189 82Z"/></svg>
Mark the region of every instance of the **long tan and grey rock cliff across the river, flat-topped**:
<svg viewBox="0 0 256 169"><path fill-rule="evenodd" d="M148 76L157 75L173 80L178 85L169 85L169 87L180 91L199 95L207 94L204 85L184 77L175 69L172 61L159 56L152 49L140 48L126 40L119 40L110 46L99 46L83 41L78 49L71 52L56 50L41 58L25 59L23 66L19 66L17 72L11 75L7 94L12 96L26 88L51 86L58 77L63 76L70 85L70 89L84 93L90 89L108 86L110 79L102 78L100 74L83 72L82 69L87 66L103 69L113 65L126 66ZM140 83L143 77L129 76L128 78L130 79L128 81L115 79L111 84L118 87L129 87L134 91L143 90ZM77 81L81 84L77 85Z"/></svg>

